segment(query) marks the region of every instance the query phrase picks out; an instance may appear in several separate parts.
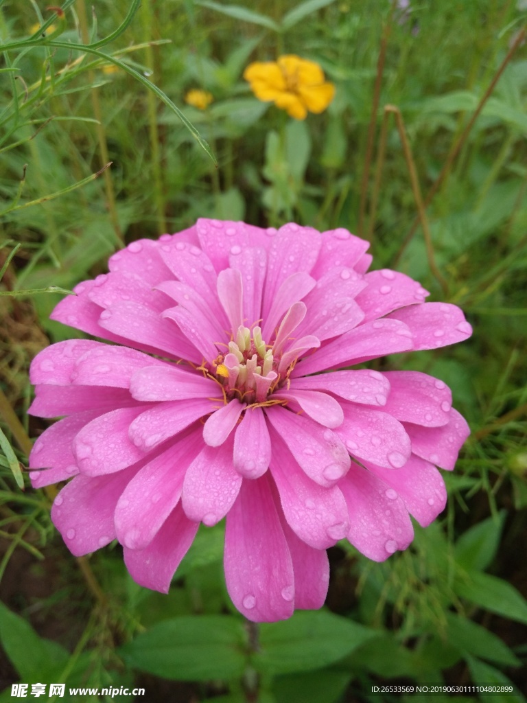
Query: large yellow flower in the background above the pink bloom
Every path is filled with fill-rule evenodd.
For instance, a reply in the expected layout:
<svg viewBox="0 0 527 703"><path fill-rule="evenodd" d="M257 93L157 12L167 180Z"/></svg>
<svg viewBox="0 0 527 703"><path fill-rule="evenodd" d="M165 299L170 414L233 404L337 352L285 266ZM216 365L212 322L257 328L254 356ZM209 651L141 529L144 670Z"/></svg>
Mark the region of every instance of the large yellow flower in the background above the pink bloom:
<svg viewBox="0 0 527 703"><path fill-rule="evenodd" d="M251 63L243 77L256 98L273 101L295 120L305 120L308 112L323 112L335 94L335 86L325 82L318 63L294 54L280 56L277 61Z"/></svg>

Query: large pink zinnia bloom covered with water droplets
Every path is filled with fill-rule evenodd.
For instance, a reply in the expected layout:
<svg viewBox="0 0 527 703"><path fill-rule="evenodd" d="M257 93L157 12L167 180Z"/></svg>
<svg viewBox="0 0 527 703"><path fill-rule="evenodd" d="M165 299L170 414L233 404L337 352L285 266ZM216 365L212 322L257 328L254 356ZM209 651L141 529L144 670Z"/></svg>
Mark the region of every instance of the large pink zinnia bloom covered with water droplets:
<svg viewBox="0 0 527 703"><path fill-rule="evenodd" d="M382 561L445 505L436 466L469 434L441 380L356 368L467 339L450 304L403 273L366 273L344 229L201 219L110 258L52 318L105 337L34 359L34 486L72 479L52 518L74 555L115 538L167 592L200 522L226 516L225 575L254 621L318 608L325 550ZM332 373L324 373L332 370Z"/></svg>

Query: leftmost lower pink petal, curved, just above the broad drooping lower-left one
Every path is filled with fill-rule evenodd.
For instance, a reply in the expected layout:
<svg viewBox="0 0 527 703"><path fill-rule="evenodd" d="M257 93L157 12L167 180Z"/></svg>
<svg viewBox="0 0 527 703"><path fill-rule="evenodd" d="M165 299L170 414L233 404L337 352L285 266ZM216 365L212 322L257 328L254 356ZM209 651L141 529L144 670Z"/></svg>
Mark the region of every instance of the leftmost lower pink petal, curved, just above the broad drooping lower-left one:
<svg viewBox="0 0 527 703"><path fill-rule="evenodd" d="M97 411L77 413L59 420L42 432L31 450L30 468L49 468L30 473L34 488L64 481L79 473L77 459L73 456L72 442L84 425L91 422L97 415Z"/></svg>

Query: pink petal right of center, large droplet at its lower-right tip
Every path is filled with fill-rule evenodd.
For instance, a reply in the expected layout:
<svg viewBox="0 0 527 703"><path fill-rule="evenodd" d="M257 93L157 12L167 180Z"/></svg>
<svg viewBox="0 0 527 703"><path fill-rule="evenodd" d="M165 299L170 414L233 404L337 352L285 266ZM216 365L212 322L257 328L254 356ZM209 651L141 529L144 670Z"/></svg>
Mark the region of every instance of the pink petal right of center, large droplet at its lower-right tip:
<svg viewBox="0 0 527 703"><path fill-rule="evenodd" d="M410 457L405 427L388 413L346 403L344 422L335 430L352 456L378 466L400 468Z"/></svg>

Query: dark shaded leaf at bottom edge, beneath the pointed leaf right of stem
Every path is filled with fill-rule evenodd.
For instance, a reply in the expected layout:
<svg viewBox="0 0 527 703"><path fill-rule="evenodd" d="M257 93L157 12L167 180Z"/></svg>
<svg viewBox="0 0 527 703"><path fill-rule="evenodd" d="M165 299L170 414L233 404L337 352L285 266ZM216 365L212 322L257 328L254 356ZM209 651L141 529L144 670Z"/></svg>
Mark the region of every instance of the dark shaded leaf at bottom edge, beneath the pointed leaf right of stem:
<svg viewBox="0 0 527 703"><path fill-rule="evenodd" d="M334 703L348 688L351 673L345 671L313 671L278 676L273 681L276 703Z"/></svg>

